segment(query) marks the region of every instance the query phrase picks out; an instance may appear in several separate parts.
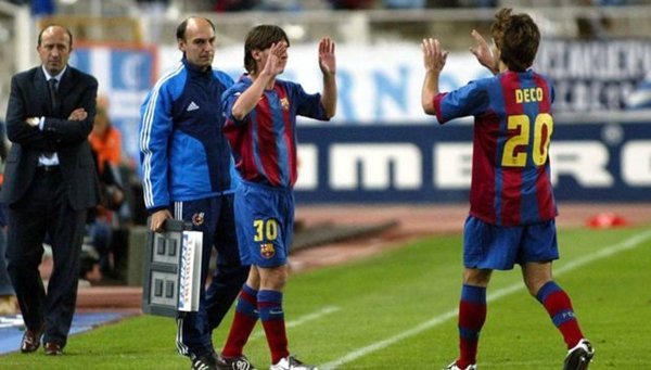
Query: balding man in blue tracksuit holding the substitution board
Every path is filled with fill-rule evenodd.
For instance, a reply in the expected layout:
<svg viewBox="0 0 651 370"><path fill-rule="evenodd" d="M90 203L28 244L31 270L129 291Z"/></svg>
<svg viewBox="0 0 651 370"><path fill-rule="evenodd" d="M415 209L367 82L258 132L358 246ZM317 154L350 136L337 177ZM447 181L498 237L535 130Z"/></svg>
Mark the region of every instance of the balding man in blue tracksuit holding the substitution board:
<svg viewBox="0 0 651 370"><path fill-rule="evenodd" d="M214 369L212 333L248 273L240 263L233 217L231 155L221 133L221 93L232 78L212 68L215 27L190 17L177 28L183 58L163 76L141 106L140 160L150 228L164 230L168 218L192 222L203 232L202 283L208 275L213 246L217 270L203 291L197 312L178 318L177 347L192 369ZM203 285L202 285L203 286Z"/></svg>

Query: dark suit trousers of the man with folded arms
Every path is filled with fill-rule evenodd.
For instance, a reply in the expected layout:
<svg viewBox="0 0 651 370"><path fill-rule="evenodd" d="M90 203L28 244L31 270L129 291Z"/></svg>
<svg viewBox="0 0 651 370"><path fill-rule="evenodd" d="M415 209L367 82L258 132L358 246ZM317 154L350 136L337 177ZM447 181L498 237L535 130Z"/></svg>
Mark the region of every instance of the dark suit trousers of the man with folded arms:
<svg viewBox="0 0 651 370"><path fill-rule="evenodd" d="M10 205L8 227L8 270L25 326L44 324L43 342L62 347L75 312L87 213L71 207L59 169L38 167L25 196ZM46 234L53 258L47 292L38 270Z"/></svg>

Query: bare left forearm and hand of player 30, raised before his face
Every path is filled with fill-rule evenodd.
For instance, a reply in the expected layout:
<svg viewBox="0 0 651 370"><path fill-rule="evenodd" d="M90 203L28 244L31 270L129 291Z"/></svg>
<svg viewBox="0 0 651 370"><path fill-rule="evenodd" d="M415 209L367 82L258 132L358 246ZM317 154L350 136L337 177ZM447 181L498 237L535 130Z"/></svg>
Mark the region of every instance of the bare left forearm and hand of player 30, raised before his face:
<svg viewBox="0 0 651 370"><path fill-rule="evenodd" d="M253 111L265 92L265 88L273 82L277 75L283 72L282 55L284 55L286 49L288 44L285 42L271 44L265 67L255 77L253 84L233 103L230 112L231 117L235 120L242 120Z"/></svg>

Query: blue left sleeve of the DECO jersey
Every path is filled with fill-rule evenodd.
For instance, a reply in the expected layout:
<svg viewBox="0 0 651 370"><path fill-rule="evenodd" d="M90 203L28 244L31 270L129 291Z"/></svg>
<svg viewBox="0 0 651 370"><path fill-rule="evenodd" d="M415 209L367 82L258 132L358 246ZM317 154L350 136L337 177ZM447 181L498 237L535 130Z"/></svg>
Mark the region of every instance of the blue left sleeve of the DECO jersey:
<svg viewBox="0 0 651 370"><path fill-rule="evenodd" d="M441 124L450 119L474 116L486 112L489 104L488 92L482 84L470 84L450 92L434 97L434 111Z"/></svg>

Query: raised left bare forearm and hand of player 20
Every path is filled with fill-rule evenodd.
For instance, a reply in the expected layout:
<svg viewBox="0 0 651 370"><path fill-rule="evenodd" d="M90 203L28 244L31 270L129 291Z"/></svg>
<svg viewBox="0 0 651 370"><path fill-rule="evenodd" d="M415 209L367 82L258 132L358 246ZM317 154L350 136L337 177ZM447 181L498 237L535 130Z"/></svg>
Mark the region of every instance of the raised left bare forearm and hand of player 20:
<svg viewBox="0 0 651 370"><path fill-rule="evenodd" d="M423 51L423 64L425 66L425 78L421 91L421 104L425 114L436 114L434 110L434 97L438 94L438 79L445 66L448 52L444 51L438 40L427 38L421 43Z"/></svg>

